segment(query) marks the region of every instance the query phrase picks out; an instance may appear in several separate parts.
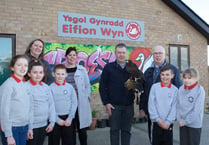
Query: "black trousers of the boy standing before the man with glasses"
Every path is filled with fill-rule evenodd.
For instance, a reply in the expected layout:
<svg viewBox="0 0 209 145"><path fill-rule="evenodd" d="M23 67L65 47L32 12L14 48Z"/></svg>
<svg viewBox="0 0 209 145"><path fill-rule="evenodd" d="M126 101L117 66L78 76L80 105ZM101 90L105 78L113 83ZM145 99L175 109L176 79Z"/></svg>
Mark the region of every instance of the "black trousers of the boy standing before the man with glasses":
<svg viewBox="0 0 209 145"><path fill-rule="evenodd" d="M169 129L161 128L157 122L152 123L152 145L173 145L173 125Z"/></svg>

